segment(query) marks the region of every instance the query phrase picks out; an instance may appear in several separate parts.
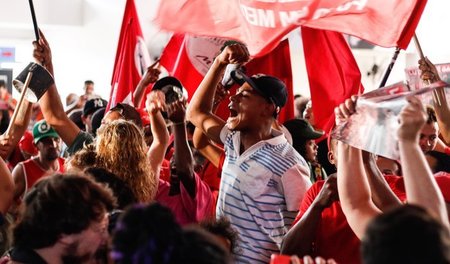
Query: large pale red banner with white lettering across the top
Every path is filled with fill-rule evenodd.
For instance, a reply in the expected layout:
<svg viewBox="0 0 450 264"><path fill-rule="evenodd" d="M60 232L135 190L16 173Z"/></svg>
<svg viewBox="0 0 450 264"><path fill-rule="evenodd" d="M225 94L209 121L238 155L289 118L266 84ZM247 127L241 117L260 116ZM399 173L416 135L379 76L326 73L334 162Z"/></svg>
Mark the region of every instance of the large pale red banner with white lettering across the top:
<svg viewBox="0 0 450 264"><path fill-rule="evenodd" d="M240 40L254 56L270 52L298 26L338 31L376 45L405 49L426 2L164 0L155 22L173 32Z"/></svg>

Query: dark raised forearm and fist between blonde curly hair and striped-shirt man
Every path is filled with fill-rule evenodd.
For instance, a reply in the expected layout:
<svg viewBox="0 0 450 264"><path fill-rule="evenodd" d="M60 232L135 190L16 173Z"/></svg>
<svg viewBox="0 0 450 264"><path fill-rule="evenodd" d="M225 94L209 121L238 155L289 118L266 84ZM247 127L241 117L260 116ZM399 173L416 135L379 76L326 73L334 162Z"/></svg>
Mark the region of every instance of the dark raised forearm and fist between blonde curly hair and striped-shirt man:
<svg viewBox="0 0 450 264"><path fill-rule="evenodd" d="M174 159L176 175L192 198L195 198L194 157L186 136L186 101L178 100L167 106L175 136Z"/></svg>

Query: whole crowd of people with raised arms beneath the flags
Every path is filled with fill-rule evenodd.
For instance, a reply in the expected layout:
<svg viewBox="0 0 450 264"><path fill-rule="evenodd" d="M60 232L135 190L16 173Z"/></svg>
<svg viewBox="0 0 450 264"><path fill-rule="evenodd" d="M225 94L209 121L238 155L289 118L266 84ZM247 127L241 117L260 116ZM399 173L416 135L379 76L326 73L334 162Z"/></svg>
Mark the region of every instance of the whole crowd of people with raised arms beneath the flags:
<svg viewBox="0 0 450 264"><path fill-rule="evenodd" d="M53 75L42 32L33 56ZM130 104L107 109L86 81L65 107L48 87L40 120L29 102L15 109L0 136L0 263L450 263L448 88L429 106L406 98L391 160L317 128L305 97L280 124L276 77L238 68L229 95L227 65L249 59L225 46L189 104L151 66ZM357 102L336 107L336 125Z"/></svg>

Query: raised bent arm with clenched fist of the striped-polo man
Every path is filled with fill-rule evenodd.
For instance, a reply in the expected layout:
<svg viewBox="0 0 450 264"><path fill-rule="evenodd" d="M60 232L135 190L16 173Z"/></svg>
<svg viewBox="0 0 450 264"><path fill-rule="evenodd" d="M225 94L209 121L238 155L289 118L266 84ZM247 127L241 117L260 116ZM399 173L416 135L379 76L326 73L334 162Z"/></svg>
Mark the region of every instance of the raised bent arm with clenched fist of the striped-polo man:
<svg viewBox="0 0 450 264"><path fill-rule="evenodd" d="M227 46L215 58L189 104L187 119L217 143L221 143L220 131L225 125L225 121L212 112L216 86L228 64L241 64L248 59L249 54L245 46L241 44Z"/></svg>

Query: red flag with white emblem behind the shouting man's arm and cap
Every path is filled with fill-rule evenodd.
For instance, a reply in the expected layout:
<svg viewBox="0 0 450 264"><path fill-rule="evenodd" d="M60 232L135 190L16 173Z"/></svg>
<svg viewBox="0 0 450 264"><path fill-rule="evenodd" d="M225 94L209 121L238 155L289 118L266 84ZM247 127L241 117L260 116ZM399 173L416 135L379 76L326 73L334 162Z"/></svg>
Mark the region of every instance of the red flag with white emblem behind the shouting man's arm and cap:
<svg viewBox="0 0 450 264"><path fill-rule="evenodd" d="M224 39L218 38L175 34L164 49L160 63L169 75L181 81L190 98L224 42ZM248 75L264 73L284 81L289 97L286 106L280 112L279 120L284 122L293 118L293 82L288 41L281 42L272 52L253 59L245 67ZM234 93L234 90L230 92ZM228 103L222 103L216 112L223 119L228 118L229 115L227 105Z"/></svg>

